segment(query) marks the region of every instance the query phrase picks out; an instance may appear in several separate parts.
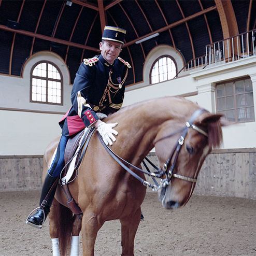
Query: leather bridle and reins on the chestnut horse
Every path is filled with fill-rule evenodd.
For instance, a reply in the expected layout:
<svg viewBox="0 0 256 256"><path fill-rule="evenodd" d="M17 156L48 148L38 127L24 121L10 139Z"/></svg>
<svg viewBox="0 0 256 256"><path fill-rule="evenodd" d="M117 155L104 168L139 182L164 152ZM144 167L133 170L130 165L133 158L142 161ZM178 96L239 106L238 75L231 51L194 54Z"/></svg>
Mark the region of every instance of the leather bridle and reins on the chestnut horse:
<svg viewBox="0 0 256 256"><path fill-rule="evenodd" d="M202 129L200 129L199 127L197 127L195 124L193 124L193 122L195 121L195 119L200 116L203 112L205 112L207 110L205 109L197 109L193 115L191 116L190 120L188 122L186 122L186 125L184 127L182 127L181 129L175 131L174 133L171 133L167 136L164 136L156 141L154 141L154 144L158 143L160 140L166 139L168 137L171 137L177 133L181 133L181 136L179 137L177 143L175 144L175 147L173 148L172 152L170 153L170 157L166 160L165 164L164 164L164 168L158 168L157 166L155 166L148 158L145 158L145 160L154 168L157 170L157 172L155 173L151 173L149 168L147 167L145 161L143 161L143 164L145 166L145 168L147 169L147 172L141 168L138 168L137 166L125 161L124 159L122 159L121 157L119 157L119 155L117 155L115 152L113 152L110 147L108 147L104 141L103 138L101 137L101 135L98 133L98 137L99 140L101 141L102 145L104 146L104 148L107 150L107 152L111 155L111 157L113 159L115 159L127 172L129 172L133 177L135 177L136 179L138 179L141 183L143 183L144 186L152 188L153 191L158 191L159 189L161 189L162 187L168 186L171 182L172 177L175 177L177 179L182 179L188 182L192 182L195 183L197 181L197 179L195 178L190 178L187 176L183 176L180 174L176 174L174 173L174 168L176 166L176 162L178 159L178 155L180 152L180 148L181 146L184 144L184 140L186 138L186 135L188 133L189 128L203 134L204 136L208 136L208 134L203 131ZM176 154L175 154L176 152ZM175 154L175 157L174 157ZM174 161L171 165L171 161L174 158ZM137 175L136 173L133 172L133 170L131 170L130 168L133 168L135 170L138 170L141 173L144 173L148 176L150 176L155 184L150 184L148 181L146 181L145 179L141 178L139 175ZM162 177L165 175L165 179L162 179ZM160 184L158 184L158 182L155 180L155 178L161 178L161 182Z"/></svg>

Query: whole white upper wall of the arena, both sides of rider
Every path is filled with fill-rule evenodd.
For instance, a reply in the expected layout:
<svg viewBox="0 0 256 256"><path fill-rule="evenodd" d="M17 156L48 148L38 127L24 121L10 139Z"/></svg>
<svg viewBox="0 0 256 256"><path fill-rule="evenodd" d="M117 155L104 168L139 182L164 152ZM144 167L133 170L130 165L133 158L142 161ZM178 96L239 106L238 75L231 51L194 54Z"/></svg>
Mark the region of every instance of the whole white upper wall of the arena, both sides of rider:
<svg viewBox="0 0 256 256"><path fill-rule="evenodd" d="M150 52L145 61L144 81L126 88L124 106L149 98L198 92L197 95L187 98L215 112L215 84L249 75L253 85L256 113L256 57L197 70L180 78L149 85L150 65L161 54L176 54L178 70L181 69L182 56L173 51L171 47L160 46ZM40 60L49 60L61 69L64 79L63 106L30 103L30 69ZM60 136L61 129L58 122L70 107L72 86L65 63L58 55L51 52L34 54L26 61L22 78L0 75L0 87L0 155L43 154L50 141ZM254 148L256 123L248 122L224 127L223 135L223 148Z"/></svg>

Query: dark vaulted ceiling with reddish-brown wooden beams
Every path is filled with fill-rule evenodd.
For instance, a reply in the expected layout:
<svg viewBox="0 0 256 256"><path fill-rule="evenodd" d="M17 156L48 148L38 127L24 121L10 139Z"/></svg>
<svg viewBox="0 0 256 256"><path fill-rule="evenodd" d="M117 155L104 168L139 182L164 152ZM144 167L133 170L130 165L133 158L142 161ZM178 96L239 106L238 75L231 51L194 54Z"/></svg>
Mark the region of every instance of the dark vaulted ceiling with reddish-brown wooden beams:
<svg viewBox="0 0 256 256"><path fill-rule="evenodd" d="M127 31L120 56L132 65L126 84L133 84L143 80L154 47L174 47L186 64L204 55L207 44L253 30L255 22L252 0L0 0L0 74L22 76L32 54L52 51L67 64L73 83L82 60L99 54L103 28L110 25Z"/></svg>

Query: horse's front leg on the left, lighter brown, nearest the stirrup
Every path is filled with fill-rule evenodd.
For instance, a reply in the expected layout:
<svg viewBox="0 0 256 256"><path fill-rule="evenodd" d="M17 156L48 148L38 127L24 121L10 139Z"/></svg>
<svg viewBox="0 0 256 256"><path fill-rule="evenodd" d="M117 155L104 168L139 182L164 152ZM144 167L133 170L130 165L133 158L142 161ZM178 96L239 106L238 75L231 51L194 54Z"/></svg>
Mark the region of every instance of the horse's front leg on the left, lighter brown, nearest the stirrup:
<svg viewBox="0 0 256 256"><path fill-rule="evenodd" d="M103 222L104 223L104 222ZM93 212L84 212L82 218L82 247L83 256L94 255L94 245L98 230L103 223L99 222L99 217Z"/></svg>

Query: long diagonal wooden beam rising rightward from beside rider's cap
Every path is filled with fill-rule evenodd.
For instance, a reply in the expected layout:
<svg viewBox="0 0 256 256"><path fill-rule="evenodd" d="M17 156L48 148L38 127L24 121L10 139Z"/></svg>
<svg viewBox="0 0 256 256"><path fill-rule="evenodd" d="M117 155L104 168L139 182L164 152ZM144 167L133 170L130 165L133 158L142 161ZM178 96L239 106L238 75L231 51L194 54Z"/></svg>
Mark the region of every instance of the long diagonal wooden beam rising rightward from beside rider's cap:
<svg viewBox="0 0 256 256"><path fill-rule="evenodd" d="M191 15L191 16L188 16L187 18L178 20L178 21L176 21L176 22L174 22L174 23L172 23L172 24L169 24L169 25L167 25L167 26L161 27L161 29L155 30L155 31L153 31L153 32L151 32L151 33L149 33L149 34L147 34L147 35L138 37L138 38L136 38L136 39L134 39L134 40L132 40L132 41L130 41L130 42L127 42L127 44L125 44L124 47L133 45L136 41L138 41L138 40L140 40L140 39L143 39L143 38L145 38L145 37L151 36L151 35L153 35L153 34L155 34L155 33L161 33L161 32L164 32L164 31L166 31L166 30L168 30L168 29L172 29L172 27L178 26L178 25L180 25L180 24L182 24L182 23L184 23L184 22L187 22L187 21L189 21L189 20L192 20L192 19L194 19L194 18L196 18L196 17L198 17L198 16L204 15L205 13L207 13L207 12L209 12L209 11L212 11L212 10L216 10L216 9L217 9L216 5L215 5L215 6L211 6L211 7L207 8L207 9L204 9L204 10L202 10L202 11L199 11L199 12L197 12L197 13Z"/></svg>

